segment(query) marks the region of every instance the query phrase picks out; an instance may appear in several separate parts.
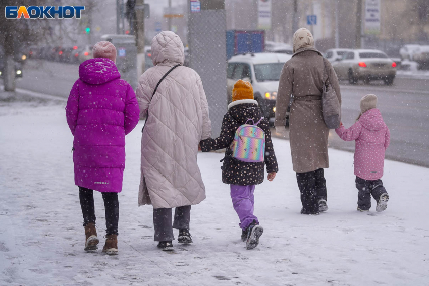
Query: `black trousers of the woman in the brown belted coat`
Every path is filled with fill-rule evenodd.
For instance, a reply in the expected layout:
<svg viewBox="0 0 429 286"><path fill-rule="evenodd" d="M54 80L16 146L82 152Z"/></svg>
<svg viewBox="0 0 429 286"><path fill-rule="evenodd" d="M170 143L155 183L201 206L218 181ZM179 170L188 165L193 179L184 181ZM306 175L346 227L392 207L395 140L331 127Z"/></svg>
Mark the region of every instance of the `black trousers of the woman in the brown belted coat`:
<svg viewBox="0 0 429 286"><path fill-rule="evenodd" d="M323 168L306 173L296 173L296 180L301 192L301 213L318 213L319 200L328 199Z"/></svg>

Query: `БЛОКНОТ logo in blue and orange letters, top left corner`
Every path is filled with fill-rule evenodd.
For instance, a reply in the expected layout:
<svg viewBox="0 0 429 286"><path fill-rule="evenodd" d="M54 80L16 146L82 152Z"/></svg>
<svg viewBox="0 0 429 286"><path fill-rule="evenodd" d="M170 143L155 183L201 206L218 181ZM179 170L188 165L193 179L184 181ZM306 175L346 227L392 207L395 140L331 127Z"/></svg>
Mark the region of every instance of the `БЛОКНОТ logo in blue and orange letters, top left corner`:
<svg viewBox="0 0 429 286"><path fill-rule="evenodd" d="M5 16L7 19L79 19L85 6L6 6ZM55 17L57 16L57 17Z"/></svg>

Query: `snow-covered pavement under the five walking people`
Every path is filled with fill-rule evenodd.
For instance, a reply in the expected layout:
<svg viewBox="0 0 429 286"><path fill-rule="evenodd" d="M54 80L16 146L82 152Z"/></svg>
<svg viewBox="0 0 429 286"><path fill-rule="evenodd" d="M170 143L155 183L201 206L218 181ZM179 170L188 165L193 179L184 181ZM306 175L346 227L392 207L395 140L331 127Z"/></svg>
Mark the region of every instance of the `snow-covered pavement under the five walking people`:
<svg viewBox="0 0 429 286"><path fill-rule="evenodd" d="M158 250L152 207L137 207L141 125L127 136L120 254L110 257L83 251L64 103L0 104L0 285L429 284L429 169L386 161L389 206L360 213L353 154L330 149L330 209L301 215L289 142L281 139L274 139L280 173L255 191L265 229L256 249L240 241L229 186L221 182L223 155L201 153L207 199L192 207L194 244ZM94 193L102 248L104 209Z"/></svg>

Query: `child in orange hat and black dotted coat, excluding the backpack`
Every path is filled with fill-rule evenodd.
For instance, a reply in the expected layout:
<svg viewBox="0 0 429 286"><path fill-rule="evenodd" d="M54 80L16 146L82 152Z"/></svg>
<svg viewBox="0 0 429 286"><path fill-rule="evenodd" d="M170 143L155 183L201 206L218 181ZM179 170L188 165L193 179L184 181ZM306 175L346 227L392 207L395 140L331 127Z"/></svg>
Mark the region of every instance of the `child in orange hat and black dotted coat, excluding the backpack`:
<svg viewBox="0 0 429 286"><path fill-rule="evenodd" d="M203 152L227 148L222 168L222 182L230 184L231 198L234 209L240 218L242 229L241 240L247 242L247 249L258 245L263 228L258 218L253 214L255 185L261 184L264 179L264 165L268 173L268 180L273 181L279 170L269 120L262 118L257 101L253 99L253 88L249 82L239 80L233 89L233 102L228 105L228 113L222 121L222 130L218 138L208 138L200 142ZM252 119L265 133L264 162L244 162L232 157L230 147L237 129Z"/></svg>

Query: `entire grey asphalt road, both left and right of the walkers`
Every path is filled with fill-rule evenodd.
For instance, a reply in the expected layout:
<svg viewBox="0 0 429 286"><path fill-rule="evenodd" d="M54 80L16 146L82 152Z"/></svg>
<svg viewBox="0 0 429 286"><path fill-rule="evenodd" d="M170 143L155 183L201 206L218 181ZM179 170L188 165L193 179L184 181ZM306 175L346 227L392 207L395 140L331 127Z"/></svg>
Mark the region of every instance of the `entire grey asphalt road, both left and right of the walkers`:
<svg viewBox="0 0 429 286"><path fill-rule="evenodd" d="M17 87L67 97L77 78L78 65L29 61ZM342 121L346 127L350 127L359 115L360 98L368 93L376 94L378 107L391 132L386 157L429 167L429 78L397 77L393 86L385 86L382 82L341 84ZM329 144L338 149L354 150L354 142L342 141L334 131L330 134Z"/></svg>

